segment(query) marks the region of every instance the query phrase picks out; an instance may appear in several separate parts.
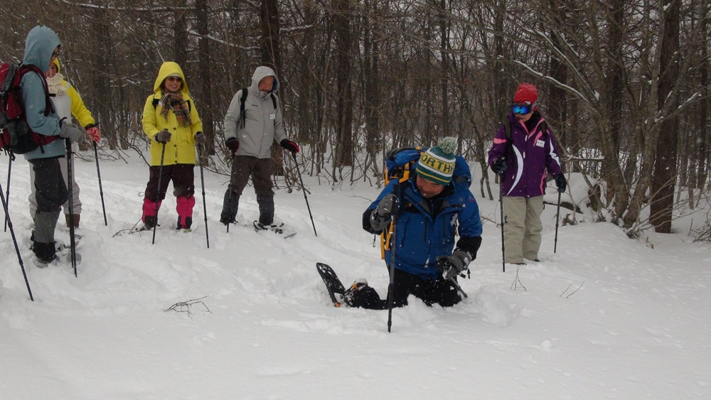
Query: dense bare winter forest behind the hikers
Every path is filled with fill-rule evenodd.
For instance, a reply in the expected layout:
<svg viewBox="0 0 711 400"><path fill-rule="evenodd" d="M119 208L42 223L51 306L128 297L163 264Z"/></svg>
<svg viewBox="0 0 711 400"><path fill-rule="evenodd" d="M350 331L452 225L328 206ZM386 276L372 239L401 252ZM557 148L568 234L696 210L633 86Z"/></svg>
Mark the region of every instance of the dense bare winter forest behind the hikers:
<svg viewBox="0 0 711 400"><path fill-rule="evenodd" d="M383 153L442 136L486 168L525 81L538 86L566 170L589 182L599 220L631 236L651 225L670 232L675 208L710 193L711 0L4 0L2 9L13 14L0 27L2 62L21 59L33 26L59 34L105 157L145 148L139 114L159 66L174 60L201 112L209 167L224 171L224 112L269 65L288 134L305 149L301 171L323 183L380 185ZM293 169L280 151L274 161ZM472 189L492 198L486 176Z"/></svg>

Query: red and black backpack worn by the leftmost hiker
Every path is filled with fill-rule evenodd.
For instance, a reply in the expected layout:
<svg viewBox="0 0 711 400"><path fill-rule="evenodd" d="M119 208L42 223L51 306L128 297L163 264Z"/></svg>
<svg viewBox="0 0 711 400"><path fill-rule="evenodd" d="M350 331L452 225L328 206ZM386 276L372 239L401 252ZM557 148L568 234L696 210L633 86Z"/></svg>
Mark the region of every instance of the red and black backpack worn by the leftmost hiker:
<svg viewBox="0 0 711 400"><path fill-rule="evenodd" d="M58 136L37 134L27 124L25 104L22 102L20 81L27 72L35 72L42 79L45 94L45 116L53 112L44 74L34 65L0 65L0 150L25 154L58 139ZM43 151L44 152L44 151Z"/></svg>

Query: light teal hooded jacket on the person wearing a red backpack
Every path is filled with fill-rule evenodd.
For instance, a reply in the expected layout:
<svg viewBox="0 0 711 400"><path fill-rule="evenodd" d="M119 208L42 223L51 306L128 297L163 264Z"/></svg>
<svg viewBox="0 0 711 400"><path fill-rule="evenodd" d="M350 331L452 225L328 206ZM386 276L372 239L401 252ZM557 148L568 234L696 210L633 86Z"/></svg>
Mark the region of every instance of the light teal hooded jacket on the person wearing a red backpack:
<svg viewBox="0 0 711 400"><path fill-rule="evenodd" d="M46 26L35 26L27 35L25 41L25 57L23 64L34 65L41 71L49 70L50 59L54 49L60 45L59 36ZM60 120L54 109L49 115L45 115L45 94L42 81L44 76L34 72L28 72L20 81L22 88L22 101L25 104L27 124L30 129L41 135L58 136ZM43 152L44 151L44 152ZM62 139L55 140L50 144L36 148L24 154L27 160L34 158L51 158L64 156L66 148Z"/></svg>

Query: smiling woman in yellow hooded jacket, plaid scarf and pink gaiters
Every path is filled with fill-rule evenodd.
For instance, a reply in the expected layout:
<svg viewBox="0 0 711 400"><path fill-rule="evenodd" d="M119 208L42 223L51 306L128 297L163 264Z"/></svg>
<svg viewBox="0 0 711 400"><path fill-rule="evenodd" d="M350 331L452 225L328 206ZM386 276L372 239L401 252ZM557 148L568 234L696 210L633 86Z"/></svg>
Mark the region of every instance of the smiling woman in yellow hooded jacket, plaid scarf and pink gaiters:
<svg viewBox="0 0 711 400"><path fill-rule="evenodd" d="M195 205L194 145L205 143L203 124L188 93L183 70L177 63L166 61L161 65L153 90L154 94L146 99L143 108L143 131L151 140L151 167L141 220L144 229L152 229L158 224L156 212L172 181L178 203L176 229L190 232ZM163 175L159 188L161 161Z"/></svg>

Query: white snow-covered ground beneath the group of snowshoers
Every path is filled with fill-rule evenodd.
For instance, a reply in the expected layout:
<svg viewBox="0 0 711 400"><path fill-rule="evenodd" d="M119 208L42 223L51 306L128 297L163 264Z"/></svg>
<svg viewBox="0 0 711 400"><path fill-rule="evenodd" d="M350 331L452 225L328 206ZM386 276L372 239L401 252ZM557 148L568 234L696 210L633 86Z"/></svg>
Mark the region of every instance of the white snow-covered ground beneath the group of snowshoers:
<svg viewBox="0 0 711 400"><path fill-rule="evenodd" d="M3 190L7 166L2 157ZM554 254L547 207L541 262L504 273L498 202L475 188L485 221L460 281L469 298L447 309L411 301L387 333L387 311L333 308L315 268L330 264L346 284L365 277L385 296L380 249L360 228L375 188L331 190L304 175L318 237L303 193L279 190L277 217L299 231L283 239L225 232L226 178L205 173L208 249L197 169L195 229L172 229L169 190L155 244L149 233L113 237L139 219L148 168L136 158L101 172L107 227L95 164L77 163L75 278L33 266L28 165L13 163L10 212L35 301L0 233L1 399L711 398L711 251L683 235L565 226ZM251 223L257 210L247 188L237 217ZM68 242L66 228L58 239ZM193 299L189 313L166 311Z"/></svg>

